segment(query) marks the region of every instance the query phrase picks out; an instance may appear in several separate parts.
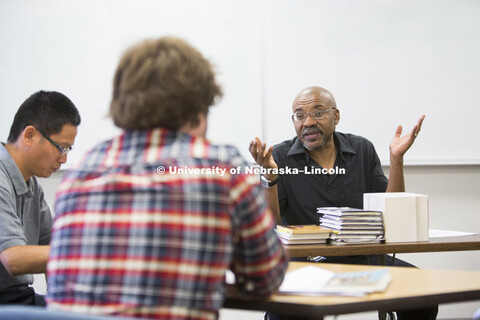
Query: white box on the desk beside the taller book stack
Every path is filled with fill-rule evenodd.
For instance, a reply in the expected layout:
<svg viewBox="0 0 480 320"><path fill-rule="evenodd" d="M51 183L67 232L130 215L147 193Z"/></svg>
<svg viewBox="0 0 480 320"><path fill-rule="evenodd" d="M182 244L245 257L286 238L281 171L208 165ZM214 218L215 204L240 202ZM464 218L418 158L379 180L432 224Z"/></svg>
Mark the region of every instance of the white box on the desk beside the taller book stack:
<svg viewBox="0 0 480 320"><path fill-rule="evenodd" d="M363 208L383 212L385 242L428 241L428 196L408 192L364 193Z"/></svg>

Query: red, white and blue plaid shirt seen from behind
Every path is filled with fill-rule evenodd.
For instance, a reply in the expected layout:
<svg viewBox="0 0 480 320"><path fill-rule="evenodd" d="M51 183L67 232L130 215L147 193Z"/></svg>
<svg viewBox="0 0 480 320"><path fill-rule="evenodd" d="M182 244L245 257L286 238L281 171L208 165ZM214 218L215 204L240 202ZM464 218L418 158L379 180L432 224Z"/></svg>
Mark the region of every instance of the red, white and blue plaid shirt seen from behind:
<svg viewBox="0 0 480 320"><path fill-rule="evenodd" d="M57 192L49 308L216 319L228 268L245 292L274 292L288 257L247 166L234 147L165 129L97 145Z"/></svg>

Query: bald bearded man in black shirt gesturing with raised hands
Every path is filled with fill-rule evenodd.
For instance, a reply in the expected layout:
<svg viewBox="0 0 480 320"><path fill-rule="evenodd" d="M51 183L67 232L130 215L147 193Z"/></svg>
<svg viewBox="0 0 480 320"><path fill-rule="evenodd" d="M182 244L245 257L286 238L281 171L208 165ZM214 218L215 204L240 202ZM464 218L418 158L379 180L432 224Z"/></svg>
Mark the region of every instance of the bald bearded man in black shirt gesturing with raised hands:
<svg viewBox="0 0 480 320"><path fill-rule="evenodd" d="M317 207L363 208L363 193L403 192L403 156L420 132L424 116L402 136L398 126L390 143L387 179L373 144L353 134L335 131L340 120L335 98L326 89L309 87L293 102L292 122L297 136L267 148L259 138L250 153L264 168L325 168L344 174L269 174L262 176L270 207L278 224L318 224ZM313 171L313 170L310 170ZM275 170L270 170L275 173ZM317 257L315 261L375 264L376 256ZM303 260L306 260L304 258ZM387 256L387 264L412 266ZM398 319L435 319L437 308L397 312ZM286 319L269 314L268 319Z"/></svg>

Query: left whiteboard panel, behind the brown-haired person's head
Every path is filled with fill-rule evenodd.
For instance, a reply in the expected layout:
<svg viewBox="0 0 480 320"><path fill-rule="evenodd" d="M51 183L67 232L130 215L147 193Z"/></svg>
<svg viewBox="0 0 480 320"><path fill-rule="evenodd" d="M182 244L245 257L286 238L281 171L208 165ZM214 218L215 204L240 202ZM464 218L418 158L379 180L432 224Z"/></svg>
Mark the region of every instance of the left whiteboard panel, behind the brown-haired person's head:
<svg viewBox="0 0 480 320"><path fill-rule="evenodd" d="M215 67L224 98L211 108L208 137L247 157L249 141L262 131L261 12L251 0L0 0L0 140L30 94L59 91L82 117L68 159L77 161L119 133L106 115L121 54L169 35L188 41Z"/></svg>

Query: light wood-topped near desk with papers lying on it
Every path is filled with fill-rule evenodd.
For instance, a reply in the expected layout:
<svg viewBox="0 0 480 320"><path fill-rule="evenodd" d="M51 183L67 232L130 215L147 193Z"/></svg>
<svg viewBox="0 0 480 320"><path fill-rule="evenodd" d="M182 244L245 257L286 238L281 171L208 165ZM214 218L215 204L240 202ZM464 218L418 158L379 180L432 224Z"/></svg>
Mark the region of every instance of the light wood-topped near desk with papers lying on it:
<svg viewBox="0 0 480 320"><path fill-rule="evenodd" d="M307 263L290 262L289 271ZM314 264L320 267L318 264ZM322 264L335 272L371 270L373 266ZM390 267L392 280L385 292L365 297L275 294L268 299L248 298L227 287L225 308L265 310L284 315L319 317L365 311L414 309L440 303L480 300L480 272Z"/></svg>

